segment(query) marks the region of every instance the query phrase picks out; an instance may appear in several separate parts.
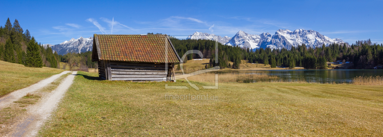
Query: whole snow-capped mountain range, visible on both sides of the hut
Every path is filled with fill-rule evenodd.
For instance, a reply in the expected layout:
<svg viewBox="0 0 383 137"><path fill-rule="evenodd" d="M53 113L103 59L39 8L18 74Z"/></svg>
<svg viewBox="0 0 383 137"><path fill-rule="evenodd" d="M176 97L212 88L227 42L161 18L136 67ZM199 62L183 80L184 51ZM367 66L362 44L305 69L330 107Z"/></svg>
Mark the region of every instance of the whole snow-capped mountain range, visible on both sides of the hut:
<svg viewBox="0 0 383 137"><path fill-rule="evenodd" d="M187 37L187 39L209 39L218 41L225 45L239 46L249 49L255 48L271 48L271 49L291 49L292 46L296 47L302 43L306 44L307 47L315 48L321 47L323 44L329 46L332 43L344 44L342 39L331 39L327 36L320 34L313 30L297 29L290 31L288 29L278 29L274 35L270 33L262 33L259 35L248 34L244 31L239 31L233 37L228 36L217 36L215 34L208 34L202 32L195 32ZM45 44L44 46L46 46ZM53 51L58 54L66 54L69 52L86 52L92 51L93 37L78 39L70 39L60 44L51 46Z"/></svg>

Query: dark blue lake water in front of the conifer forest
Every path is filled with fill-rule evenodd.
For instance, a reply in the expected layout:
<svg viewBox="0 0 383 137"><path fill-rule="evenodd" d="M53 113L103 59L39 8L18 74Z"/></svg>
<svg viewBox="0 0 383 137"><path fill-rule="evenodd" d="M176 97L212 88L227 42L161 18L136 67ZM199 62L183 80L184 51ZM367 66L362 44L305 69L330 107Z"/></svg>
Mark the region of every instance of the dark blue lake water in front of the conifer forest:
<svg viewBox="0 0 383 137"><path fill-rule="evenodd" d="M319 83L349 83L358 76L383 76L383 70L251 70L236 71L239 74L266 73L283 79L304 78L308 82ZM232 73L232 71L219 71L217 73Z"/></svg>

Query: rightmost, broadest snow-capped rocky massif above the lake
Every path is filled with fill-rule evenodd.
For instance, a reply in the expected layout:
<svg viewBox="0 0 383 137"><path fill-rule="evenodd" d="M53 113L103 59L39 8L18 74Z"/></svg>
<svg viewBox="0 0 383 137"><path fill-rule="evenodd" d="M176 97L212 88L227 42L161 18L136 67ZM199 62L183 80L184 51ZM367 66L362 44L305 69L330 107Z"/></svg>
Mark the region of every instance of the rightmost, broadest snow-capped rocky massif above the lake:
<svg viewBox="0 0 383 137"><path fill-rule="evenodd" d="M271 49L291 49L291 46L296 47L304 43L307 47L314 48L321 47L323 44L329 46L329 44L334 42L338 44L344 43L342 39L330 39L313 30L297 29L290 31L288 29L278 29L271 39L262 40L258 46L262 48L270 47Z"/></svg>

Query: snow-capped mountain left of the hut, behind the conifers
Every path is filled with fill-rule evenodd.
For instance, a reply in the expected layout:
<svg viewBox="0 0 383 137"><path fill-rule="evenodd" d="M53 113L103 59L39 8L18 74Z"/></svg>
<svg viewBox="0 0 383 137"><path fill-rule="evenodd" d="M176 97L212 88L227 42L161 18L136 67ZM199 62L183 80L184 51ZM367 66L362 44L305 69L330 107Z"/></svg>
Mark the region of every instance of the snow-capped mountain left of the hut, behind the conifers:
<svg viewBox="0 0 383 137"><path fill-rule="evenodd" d="M56 51L58 54L67 54L69 52L87 52L92 51L93 48L93 37L90 38L78 38L64 41L61 44L51 46L52 51Z"/></svg>

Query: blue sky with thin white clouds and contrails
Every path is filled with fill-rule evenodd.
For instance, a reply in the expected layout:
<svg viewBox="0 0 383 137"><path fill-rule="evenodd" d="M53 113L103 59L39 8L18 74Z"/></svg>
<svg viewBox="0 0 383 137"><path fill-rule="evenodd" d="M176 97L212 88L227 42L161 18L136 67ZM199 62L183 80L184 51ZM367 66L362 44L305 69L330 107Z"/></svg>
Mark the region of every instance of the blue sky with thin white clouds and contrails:
<svg viewBox="0 0 383 137"><path fill-rule="evenodd" d="M0 24L17 19L42 44L93 34L195 31L234 36L312 29L346 42L383 43L383 0L0 1ZM113 21L112 21L113 20ZM113 22L113 29L112 29Z"/></svg>

